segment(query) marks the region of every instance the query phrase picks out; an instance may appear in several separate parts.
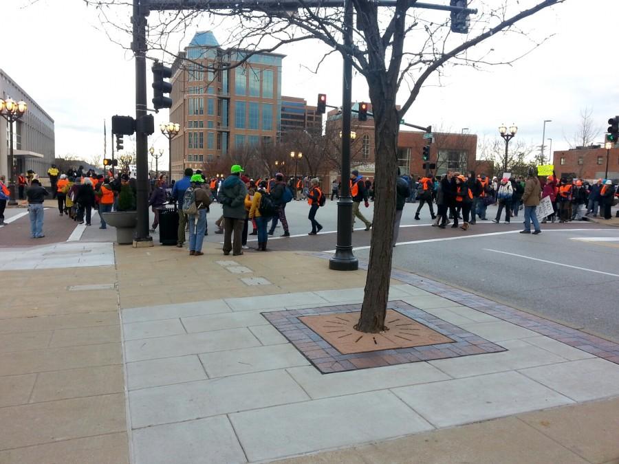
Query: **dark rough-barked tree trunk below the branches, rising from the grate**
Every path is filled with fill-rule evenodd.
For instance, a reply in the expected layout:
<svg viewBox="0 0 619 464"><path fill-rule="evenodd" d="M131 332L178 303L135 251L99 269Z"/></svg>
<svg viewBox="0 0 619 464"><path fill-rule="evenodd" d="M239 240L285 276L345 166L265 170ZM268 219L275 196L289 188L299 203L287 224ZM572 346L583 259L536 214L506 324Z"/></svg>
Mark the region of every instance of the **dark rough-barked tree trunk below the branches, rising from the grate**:
<svg viewBox="0 0 619 464"><path fill-rule="evenodd" d="M381 98L384 98L381 95ZM393 255L393 220L395 219L395 181L398 170L398 113L391 98L380 100L371 94L376 124L376 162L374 219L365 280L361 316L355 329L361 332L384 331L384 317L389 298L391 258ZM377 102L376 106L374 102Z"/></svg>

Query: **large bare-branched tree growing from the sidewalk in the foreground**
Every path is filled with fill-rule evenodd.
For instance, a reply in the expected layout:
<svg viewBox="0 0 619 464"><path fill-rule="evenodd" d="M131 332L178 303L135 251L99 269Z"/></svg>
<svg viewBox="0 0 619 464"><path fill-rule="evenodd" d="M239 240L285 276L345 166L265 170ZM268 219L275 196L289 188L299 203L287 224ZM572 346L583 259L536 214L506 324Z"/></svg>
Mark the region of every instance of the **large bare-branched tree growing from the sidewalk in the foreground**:
<svg viewBox="0 0 619 464"><path fill-rule="evenodd" d="M351 59L354 69L365 77L369 87L376 122L376 226L371 236L365 296L356 329L377 333L385 329L389 296L400 120L411 109L424 85L440 83L439 78L447 65L480 67L516 60L518 57L493 59L494 48L481 47L497 34L517 34L523 41L528 41L528 50L521 56L539 46L543 40L534 41L532 34L525 34L518 23L565 0L504 0L498 5L497 2L481 3L481 11L475 16L471 32L461 36L450 32L447 14L439 16L423 12L415 8L416 0L395 0L391 8L380 10L371 0L349 1L356 14L352 43L342 40L349 30L343 21L342 8L321 8L299 1L294 11L290 8L282 10L273 6L274 3L260 2L241 2L230 4L230 10L212 10L210 2L205 0L199 10L151 13L149 47L164 50L164 54L170 53L166 51L169 38L174 34L182 36L184 31L192 29L195 20L206 15L210 19L220 18L228 25L230 38L226 45L240 52L240 65L246 65L253 54L272 52L283 45L310 38L325 43L331 49L327 55L338 52ZM124 1L100 0L96 5L110 27L130 30L126 21L119 26L105 17L105 12L109 11L105 6L120 3ZM167 5L173 3L169 0ZM195 1L177 3L180 8L182 5L197 5ZM521 3L528 8L521 7ZM404 99L401 107L397 105L398 95Z"/></svg>

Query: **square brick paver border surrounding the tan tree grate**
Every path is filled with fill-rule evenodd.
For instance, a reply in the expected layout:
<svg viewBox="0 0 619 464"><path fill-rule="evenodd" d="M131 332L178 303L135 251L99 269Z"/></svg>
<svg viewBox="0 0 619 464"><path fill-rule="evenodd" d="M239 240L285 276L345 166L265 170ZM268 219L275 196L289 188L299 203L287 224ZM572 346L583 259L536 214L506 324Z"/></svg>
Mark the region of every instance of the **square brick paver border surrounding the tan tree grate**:
<svg viewBox="0 0 619 464"><path fill-rule="evenodd" d="M503 346L489 342L479 335L470 333L403 301L390 301L388 308L445 335L453 342L345 355L305 325L300 318L353 313L360 311L360 304L272 311L264 312L262 316L323 374L507 351Z"/></svg>

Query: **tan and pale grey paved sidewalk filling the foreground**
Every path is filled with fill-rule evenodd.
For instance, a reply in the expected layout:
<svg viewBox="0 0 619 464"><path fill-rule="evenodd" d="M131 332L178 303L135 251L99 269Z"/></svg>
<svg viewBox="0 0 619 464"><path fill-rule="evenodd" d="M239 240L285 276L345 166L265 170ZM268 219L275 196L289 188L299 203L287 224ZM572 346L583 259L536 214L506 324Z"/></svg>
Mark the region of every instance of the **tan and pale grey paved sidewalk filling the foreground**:
<svg viewBox="0 0 619 464"><path fill-rule="evenodd" d="M352 311L363 270L68 245L0 271L2 464L619 459L612 342L398 271L394 307L456 343L343 357L298 318Z"/></svg>

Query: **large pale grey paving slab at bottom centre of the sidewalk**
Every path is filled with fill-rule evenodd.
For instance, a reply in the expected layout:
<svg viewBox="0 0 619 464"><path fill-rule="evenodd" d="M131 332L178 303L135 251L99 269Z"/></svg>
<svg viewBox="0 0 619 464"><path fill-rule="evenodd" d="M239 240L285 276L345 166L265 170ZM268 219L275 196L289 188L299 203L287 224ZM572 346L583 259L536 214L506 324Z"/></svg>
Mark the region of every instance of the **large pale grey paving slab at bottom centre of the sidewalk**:
<svg viewBox="0 0 619 464"><path fill-rule="evenodd" d="M388 439L432 426L389 391L318 399L230 415L249 461Z"/></svg>

